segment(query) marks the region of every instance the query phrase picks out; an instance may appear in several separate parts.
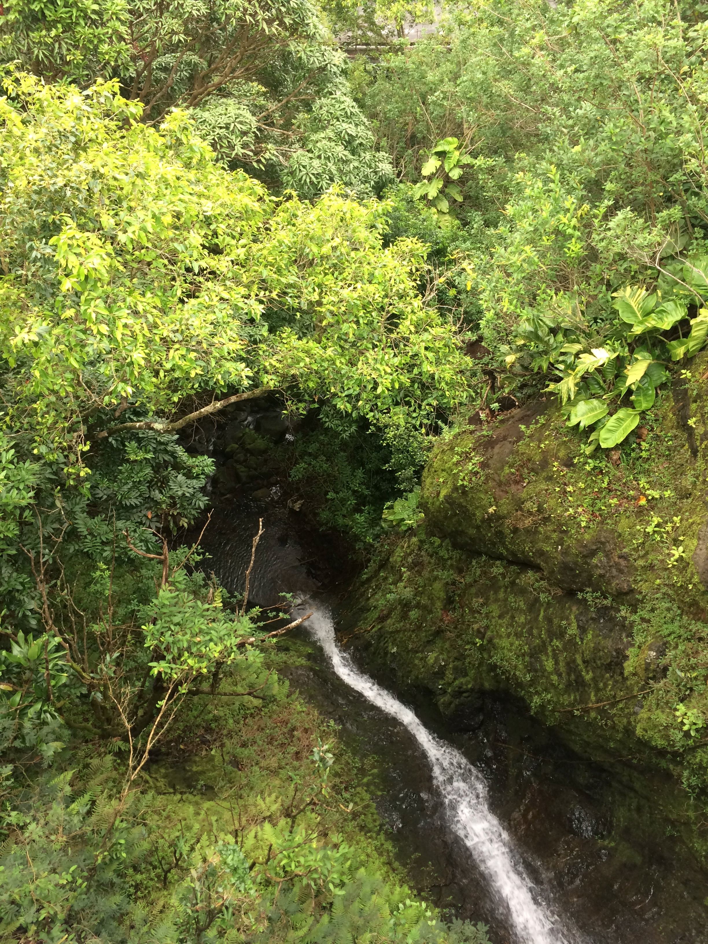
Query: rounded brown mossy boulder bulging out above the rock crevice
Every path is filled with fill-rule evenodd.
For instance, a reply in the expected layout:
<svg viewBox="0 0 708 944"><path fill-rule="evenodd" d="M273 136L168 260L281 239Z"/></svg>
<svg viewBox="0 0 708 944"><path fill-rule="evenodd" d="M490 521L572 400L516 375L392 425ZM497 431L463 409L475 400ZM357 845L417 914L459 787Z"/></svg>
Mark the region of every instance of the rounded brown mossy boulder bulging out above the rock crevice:
<svg viewBox="0 0 708 944"><path fill-rule="evenodd" d="M566 495L559 496L559 482L577 450L560 430L558 408L534 403L447 441L423 477L420 507L428 531L456 548L537 567L565 590L627 594L633 566L621 531L600 515L581 533L563 520Z"/></svg>

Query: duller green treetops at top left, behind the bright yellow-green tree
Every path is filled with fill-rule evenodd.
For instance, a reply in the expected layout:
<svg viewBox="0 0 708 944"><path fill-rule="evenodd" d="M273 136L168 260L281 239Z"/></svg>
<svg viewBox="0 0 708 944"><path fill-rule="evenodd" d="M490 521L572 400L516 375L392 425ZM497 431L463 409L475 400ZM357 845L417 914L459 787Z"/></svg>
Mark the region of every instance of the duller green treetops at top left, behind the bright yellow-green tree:
<svg viewBox="0 0 708 944"><path fill-rule="evenodd" d="M114 78L152 125L189 109L228 166L305 195L341 182L371 196L392 178L348 94L346 57L309 0L10 0L0 58L81 89Z"/></svg>

